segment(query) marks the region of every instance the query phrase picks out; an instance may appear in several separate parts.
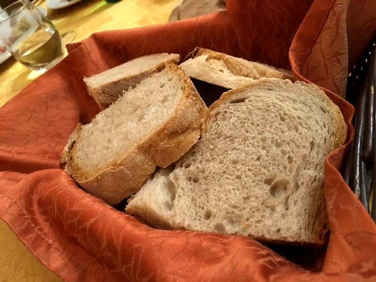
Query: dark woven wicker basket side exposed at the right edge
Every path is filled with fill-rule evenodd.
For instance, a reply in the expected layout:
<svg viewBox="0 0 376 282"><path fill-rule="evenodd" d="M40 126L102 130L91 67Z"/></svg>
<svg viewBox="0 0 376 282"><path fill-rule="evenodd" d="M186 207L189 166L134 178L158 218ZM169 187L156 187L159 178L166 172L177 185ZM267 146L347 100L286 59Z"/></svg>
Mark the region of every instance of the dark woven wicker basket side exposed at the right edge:
<svg viewBox="0 0 376 282"><path fill-rule="evenodd" d="M352 150L344 179L376 222L376 37L349 73L346 99L356 107Z"/></svg>

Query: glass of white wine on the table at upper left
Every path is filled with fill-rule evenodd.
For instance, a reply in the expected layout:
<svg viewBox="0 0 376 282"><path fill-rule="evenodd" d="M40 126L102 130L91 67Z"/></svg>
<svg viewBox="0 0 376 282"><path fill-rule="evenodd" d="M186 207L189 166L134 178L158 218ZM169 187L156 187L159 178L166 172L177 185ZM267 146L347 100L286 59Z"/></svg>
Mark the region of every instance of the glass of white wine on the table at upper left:
<svg viewBox="0 0 376 282"><path fill-rule="evenodd" d="M46 71L64 57L64 43L55 26L27 0L0 11L0 48L34 71Z"/></svg>

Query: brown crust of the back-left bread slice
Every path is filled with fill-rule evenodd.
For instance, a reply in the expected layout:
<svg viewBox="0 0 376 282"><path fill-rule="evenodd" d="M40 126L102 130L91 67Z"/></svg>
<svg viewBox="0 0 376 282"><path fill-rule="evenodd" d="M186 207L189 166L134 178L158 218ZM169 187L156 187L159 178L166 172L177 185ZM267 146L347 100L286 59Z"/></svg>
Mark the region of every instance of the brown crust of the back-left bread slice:
<svg viewBox="0 0 376 282"><path fill-rule="evenodd" d="M148 56L152 55L146 55L143 58L147 60ZM168 64L178 64L180 61L180 56L178 54L171 54L171 56L172 57L170 59L160 62L148 70L120 77L117 80L112 80L96 87L91 85L90 78L85 77L84 82L86 83L88 94L94 98L99 108L101 110L104 110L108 108L109 105L114 103L120 95L122 95L123 90L134 88L146 77L149 77L156 72L162 71Z"/></svg>

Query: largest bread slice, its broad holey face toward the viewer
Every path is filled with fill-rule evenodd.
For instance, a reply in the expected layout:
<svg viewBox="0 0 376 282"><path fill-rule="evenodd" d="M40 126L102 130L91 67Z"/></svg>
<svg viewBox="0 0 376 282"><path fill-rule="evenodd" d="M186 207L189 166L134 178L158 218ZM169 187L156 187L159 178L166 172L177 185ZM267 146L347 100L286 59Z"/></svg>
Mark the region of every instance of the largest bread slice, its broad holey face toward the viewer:
<svg viewBox="0 0 376 282"><path fill-rule="evenodd" d="M214 102L201 139L125 211L154 227L321 245L325 156L346 135L339 108L318 87L260 79Z"/></svg>

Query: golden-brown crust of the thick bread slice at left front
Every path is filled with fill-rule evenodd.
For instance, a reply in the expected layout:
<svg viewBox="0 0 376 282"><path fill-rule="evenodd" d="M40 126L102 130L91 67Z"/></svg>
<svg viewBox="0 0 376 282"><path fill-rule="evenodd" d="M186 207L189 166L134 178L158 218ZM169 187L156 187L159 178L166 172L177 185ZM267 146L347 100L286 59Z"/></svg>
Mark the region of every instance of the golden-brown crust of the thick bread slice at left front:
<svg viewBox="0 0 376 282"><path fill-rule="evenodd" d="M135 193L156 166L177 161L201 135L207 107L187 75L176 65L167 65L179 78L183 95L175 113L143 141L129 148L118 162L88 173L74 160L75 147L67 158L67 169L76 182L89 193L117 204ZM76 142L80 142L80 135Z"/></svg>

